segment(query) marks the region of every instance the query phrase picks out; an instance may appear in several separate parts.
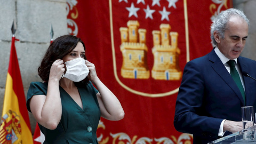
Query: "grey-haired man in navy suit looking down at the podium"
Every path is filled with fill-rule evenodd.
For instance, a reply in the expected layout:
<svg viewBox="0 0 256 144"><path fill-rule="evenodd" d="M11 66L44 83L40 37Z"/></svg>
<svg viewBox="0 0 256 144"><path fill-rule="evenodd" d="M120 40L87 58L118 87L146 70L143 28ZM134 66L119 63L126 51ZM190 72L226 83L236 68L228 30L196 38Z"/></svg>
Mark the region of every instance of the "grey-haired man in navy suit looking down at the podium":
<svg viewBox="0 0 256 144"><path fill-rule="evenodd" d="M174 126L177 131L193 134L194 143L207 143L241 131L241 107L253 106L255 112L256 81L243 74L256 77L256 61L239 57L248 28L249 20L242 11L222 11L211 26L216 47L184 68ZM229 60L234 60L239 82L233 78Z"/></svg>

